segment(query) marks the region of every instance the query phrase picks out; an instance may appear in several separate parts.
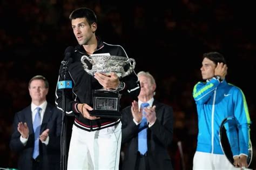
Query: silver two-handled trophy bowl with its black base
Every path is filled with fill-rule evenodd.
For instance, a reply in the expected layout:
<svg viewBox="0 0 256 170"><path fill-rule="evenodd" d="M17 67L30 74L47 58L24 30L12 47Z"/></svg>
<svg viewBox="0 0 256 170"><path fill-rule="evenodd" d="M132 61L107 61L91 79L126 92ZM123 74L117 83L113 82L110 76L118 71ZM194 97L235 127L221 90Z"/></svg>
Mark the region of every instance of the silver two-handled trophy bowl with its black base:
<svg viewBox="0 0 256 170"><path fill-rule="evenodd" d="M91 69L87 65L86 60L91 64ZM82 56L81 62L84 70L94 76L96 72L110 74L114 72L118 78L128 76L134 69L136 62L133 58L122 56L110 56L106 54L98 54ZM126 70L125 70L126 69ZM122 114L119 112L119 100L121 95L116 90L98 89L93 93L93 110L90 115L105 118L120 118Z"/></svg>

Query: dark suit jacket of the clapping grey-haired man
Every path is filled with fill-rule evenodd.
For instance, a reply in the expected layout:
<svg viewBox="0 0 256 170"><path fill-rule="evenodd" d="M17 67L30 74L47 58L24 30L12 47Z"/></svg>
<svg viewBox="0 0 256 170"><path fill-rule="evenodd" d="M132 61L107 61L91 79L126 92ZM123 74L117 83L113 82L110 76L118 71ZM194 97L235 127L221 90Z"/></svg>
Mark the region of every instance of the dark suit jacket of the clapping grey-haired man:
<svg viewBox="0 0 256 170"><path fill-rule="evenodd" d="M169 155L169 147L173 139L173 110L171 106L159 103L156 105L156 122L147 128L147 162L152 170L173 169ZM133 122L131 106L122 111L122 145L124 148L123 170L137 169L138 156L138 128Z"/></svg>

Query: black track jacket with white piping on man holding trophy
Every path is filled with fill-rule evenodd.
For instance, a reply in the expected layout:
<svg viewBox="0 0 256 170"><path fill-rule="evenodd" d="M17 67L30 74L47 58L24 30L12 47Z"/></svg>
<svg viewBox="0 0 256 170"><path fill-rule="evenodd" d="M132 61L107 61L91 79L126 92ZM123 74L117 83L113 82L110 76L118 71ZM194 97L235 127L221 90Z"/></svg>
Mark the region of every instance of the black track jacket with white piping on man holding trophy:
<svg viewBox="0 0 256 170"><path fill-rule="evenodd" d="M126 52L120 45L110 45L102 42L98 39L97 50L93 54L97 53L110 53L111 56L123 56L127 57ZM66 80L71 80L73 87L72 89L65 89L65 113L67 115L75 115L75 125L86 131L96 131L102 128L110 127L116 125L120 122L120 119L111 118L100 118L97 120L89 120L83 117L81 113L77 110L78 103L86 103L92 107L92 93L95 90L102 89L102 85L88 74L80 61L82 56L87 55L83 46L76 46L75 52L72 53L72 63L68 67L68 74L66 74ZM128 57L127 57L128 58ZM85 60L89 67L91 64ZM61 70L60 66L60 70ZM89 68L90 69L90 68ZM63 77L59 75L58 82L62 81ZM131 98L136 99L140 92L139 80L134 71L128 76L120 79L125 83L125 89L120 91L122 97L129 95ZM63 110L63 96L62 89L56 88L56 106L60 110Z"/></svg>

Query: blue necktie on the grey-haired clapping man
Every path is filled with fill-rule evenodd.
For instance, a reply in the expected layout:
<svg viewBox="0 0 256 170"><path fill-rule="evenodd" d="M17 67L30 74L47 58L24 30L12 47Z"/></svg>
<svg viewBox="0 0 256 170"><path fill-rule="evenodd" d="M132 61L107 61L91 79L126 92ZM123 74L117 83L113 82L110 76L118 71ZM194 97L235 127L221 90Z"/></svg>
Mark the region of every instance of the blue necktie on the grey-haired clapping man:
<svg viewBox="0 0 256 170"><path fill-rule="evenodd" d="M140 108L149 106L149 103L142 103ZM143 111L143 114L146 114ZM138 134L138 151L140 154L145 154L147 152L147 119L142 117L142 122L139 124L139 134Z"/></svg>

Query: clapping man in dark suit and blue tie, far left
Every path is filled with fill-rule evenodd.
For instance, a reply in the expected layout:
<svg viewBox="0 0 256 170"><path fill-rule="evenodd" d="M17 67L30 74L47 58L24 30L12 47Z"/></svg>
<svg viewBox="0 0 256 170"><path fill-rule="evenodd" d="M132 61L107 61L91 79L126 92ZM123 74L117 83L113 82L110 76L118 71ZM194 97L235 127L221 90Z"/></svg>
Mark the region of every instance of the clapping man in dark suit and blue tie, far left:
<svg viewBox="0 0 256 170"><path fill-rule="evenodd" d="M10 148L19 154L19 170L59 169L62 113L46 101L48 90L48 80L33 77L31 105L15 114Z"/></svg>

